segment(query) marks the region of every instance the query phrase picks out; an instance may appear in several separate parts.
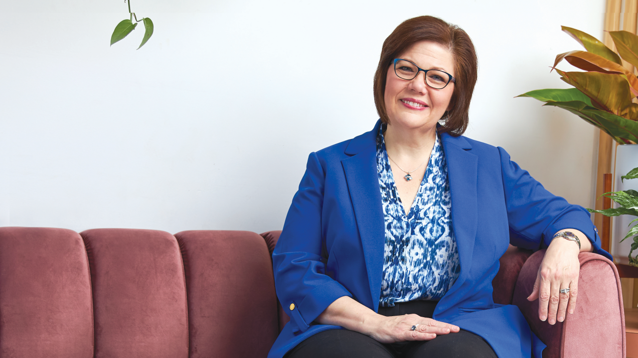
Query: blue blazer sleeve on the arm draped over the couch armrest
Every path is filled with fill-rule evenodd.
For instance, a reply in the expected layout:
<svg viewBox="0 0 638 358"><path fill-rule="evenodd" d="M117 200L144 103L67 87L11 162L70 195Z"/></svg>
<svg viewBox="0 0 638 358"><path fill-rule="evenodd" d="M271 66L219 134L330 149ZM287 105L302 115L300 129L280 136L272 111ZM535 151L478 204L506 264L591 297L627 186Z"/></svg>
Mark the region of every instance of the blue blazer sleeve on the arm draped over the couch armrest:
<svg viewBox="0 0 638 358"><path fill-rule="evenodd" d="M593 252L612 259L600 247L598 231L585 208L547 191L528 171L513 162L505 149L498 147L498 150L512 245L536 251L549 246L558 231L577 229L591 241Z"/></svg>

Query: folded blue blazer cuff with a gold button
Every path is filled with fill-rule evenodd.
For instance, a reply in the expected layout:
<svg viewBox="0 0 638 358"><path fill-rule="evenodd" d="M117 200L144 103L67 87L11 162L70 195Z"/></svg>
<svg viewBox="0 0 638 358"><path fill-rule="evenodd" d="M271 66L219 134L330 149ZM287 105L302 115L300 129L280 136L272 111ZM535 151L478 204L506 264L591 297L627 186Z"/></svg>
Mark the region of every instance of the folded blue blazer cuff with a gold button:
<svg viewBox="0 0 638 358"><path fill-rule="evenodd" d="M306 332L313 320L322 314L331 303L343 296L352 297L352 294L341 283L330 281L315 287L299 304L286 303L288 305L286 313L290 316L293 333ZM291 303L295 304L292 310L290 310Z"/></svg>

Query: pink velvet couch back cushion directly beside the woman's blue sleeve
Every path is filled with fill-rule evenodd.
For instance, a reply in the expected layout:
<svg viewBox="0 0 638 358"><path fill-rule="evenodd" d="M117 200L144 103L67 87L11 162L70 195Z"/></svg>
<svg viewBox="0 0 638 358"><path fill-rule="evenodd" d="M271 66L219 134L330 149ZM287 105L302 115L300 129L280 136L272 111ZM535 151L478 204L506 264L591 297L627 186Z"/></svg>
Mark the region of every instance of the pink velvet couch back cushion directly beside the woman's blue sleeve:
<svg viewBox="0 0 638 358"><path fill-rule="evenodd" d="M278 336L272 264L248 231L175 234L188 288L190 356L265 357Z"/></svg>

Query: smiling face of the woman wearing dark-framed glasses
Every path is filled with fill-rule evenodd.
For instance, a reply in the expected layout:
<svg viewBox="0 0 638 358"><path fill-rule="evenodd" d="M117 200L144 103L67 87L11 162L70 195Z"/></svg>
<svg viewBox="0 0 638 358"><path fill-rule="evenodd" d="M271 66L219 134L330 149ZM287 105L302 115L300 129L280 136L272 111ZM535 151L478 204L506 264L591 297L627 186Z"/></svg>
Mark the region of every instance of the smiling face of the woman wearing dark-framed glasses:
<svg viewBox="0 0 638 358"><path fill-rule="evenodd" d="M413 62L422 69L440 69L455 76L452 53L432 41L414 43L397 58ZM384 96L390 125L409 129L435 127L443 113L452 110L449 108L452 92L452 82L443 89L433 89L426 85L423 71L419 71L419 75L412 80L403 80L394 73L394 63L390 64Z"/></svg>

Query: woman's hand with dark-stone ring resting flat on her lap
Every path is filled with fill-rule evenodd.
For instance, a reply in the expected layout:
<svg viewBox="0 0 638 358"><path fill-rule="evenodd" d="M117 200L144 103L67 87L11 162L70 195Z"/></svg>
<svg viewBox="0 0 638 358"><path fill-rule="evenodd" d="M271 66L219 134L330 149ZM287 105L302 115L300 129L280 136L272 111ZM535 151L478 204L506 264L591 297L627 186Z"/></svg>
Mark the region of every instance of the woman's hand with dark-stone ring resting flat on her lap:
<svg viewBox="0 0 638 358"><path fill-rule="evenodd" d="M366 321L364 321L364 326L369 324L369 330L366 330L367 335L381 343L429 341L439 334L456 333L460 330L459 327L453 324L420 317L419 315L390 317L376 315ZM417 329L412 331L412 326L417 326Z"/></svg>

